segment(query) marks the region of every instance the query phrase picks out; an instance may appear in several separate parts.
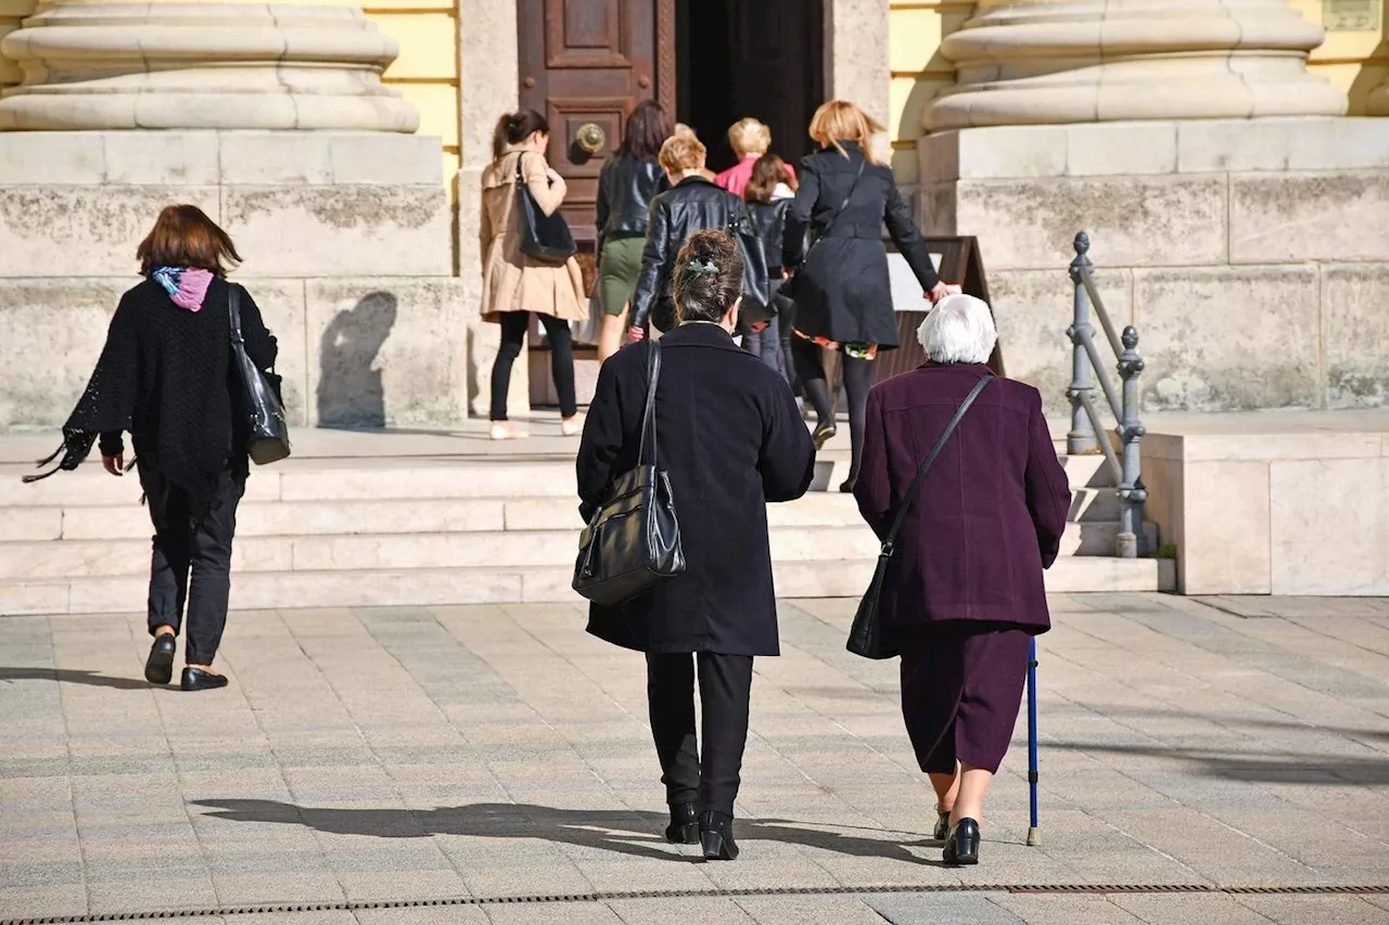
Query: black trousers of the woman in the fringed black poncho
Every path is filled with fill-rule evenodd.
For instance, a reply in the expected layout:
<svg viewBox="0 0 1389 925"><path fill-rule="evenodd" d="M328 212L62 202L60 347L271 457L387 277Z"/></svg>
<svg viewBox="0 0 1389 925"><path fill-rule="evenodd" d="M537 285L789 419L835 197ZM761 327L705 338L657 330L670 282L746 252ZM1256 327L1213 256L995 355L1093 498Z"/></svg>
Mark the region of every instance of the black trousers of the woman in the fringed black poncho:
<svg viewBox="0 0 1389 925"><path fill-rule="evenodd" d="M246 476L224 472L211 501L199 503L144 458L136 462L154 522L150 635L160 626L172 626L178 633L186 603L185 660L190 665L210 665L226 629L232 536Z"/></svg>

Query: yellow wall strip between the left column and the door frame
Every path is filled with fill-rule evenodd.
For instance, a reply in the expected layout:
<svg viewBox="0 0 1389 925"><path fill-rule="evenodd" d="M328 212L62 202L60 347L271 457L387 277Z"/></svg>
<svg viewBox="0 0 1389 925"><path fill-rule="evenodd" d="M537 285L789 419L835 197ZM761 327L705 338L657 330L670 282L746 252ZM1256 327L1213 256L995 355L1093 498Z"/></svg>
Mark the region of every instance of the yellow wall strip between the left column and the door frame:
<svg viewBox="0 0 1389 925"><path fill-rule="evenodd" d="M458 174L457 0L369 0L367 17L400 43L382 82L419 110L419 133L442 139L443 181Z"/></svg>

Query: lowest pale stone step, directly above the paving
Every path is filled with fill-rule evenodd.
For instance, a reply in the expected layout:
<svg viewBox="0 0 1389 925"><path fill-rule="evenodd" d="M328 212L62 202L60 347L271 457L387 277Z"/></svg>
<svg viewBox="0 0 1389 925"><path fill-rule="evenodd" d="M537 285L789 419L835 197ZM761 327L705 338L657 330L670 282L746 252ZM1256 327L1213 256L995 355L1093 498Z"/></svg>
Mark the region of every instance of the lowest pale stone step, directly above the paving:
<svg viewBox="0 0 1389 925"><path fill-rule="evenodd" d="M1172 562L1138 558L1061 558L1046 575L1050 593L1171 590ZM857 597L872 561L782 561L774 565L781 597ZM415 568L242 572L232 579L232 607L388 607L583 601L569 589L568 567ZM15 614L139 612L142 576L0 579L0 606ZM576 621L582 615L575 614Z"/></svg>

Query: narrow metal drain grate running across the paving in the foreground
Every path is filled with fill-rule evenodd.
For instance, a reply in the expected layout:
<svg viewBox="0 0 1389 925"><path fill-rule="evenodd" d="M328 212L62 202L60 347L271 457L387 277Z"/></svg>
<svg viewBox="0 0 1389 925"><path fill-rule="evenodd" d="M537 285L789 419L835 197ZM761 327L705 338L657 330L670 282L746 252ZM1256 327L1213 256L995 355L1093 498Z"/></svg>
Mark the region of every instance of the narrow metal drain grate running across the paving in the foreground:
<svg viewBox="0 0 1389 925"><path fill-rule="evenodd" d="M150 912L104 912L39 918L4 918L0 925L76 925L78 922L153 922L203 915L257 915L265 912L356 912L374 908L428 908L440 906L506 906L518 903L607 903L642 899L736 897L736 896L863 896L870 893L1204 893L1210 896L1371 896L1389 894L1389 885L1370 886L1213 886L1208 883L938 883L913 886L785 886L731 890L631 890L608 893L538 893L533 896L442 896L418 900L361 903L268 903L264 906L221 906L208 908L160 910Z"/></svg>

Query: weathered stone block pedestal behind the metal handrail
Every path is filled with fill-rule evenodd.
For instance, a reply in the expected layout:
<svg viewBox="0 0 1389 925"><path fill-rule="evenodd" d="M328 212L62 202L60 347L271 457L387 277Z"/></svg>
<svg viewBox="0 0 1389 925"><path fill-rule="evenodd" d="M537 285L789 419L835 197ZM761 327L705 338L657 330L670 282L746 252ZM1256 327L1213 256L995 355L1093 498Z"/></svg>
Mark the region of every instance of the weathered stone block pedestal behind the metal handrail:
<svg viewBox="0 0 1389 925"><path fill-rule="evenodd" d="M1146 411L1389 404L1389 119L974 128L918 153L924 229L979 236L1008 374L1050 411L1079 231L1142 336Z"/></svg>

